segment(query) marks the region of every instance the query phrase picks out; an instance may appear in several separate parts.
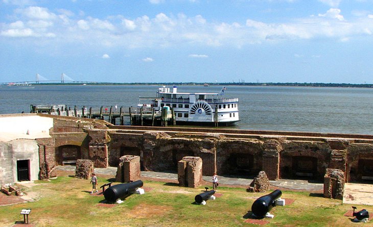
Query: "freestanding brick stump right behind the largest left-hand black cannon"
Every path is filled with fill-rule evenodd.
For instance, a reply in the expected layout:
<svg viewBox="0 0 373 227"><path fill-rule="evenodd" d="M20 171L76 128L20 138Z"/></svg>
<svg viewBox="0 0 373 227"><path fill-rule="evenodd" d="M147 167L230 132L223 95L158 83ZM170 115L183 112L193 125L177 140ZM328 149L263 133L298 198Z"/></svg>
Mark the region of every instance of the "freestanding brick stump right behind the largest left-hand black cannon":
<svg viewBox="0 0 373 227"><path fill-rule="evenodd" d="M125 155L119 159L119 166L116 170L115 181L127 183L141 179L140 157Z"/></svg>

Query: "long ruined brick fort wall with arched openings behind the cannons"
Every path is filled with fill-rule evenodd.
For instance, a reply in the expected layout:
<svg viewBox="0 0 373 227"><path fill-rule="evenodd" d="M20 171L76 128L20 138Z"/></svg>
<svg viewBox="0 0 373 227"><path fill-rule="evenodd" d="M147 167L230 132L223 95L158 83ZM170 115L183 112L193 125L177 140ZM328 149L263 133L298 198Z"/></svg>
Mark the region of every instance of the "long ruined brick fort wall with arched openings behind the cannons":
<svg viewBox="0 0 373 227"><path fill-rule="evenodd" d="M141 170L178 171L183 157L199 157L203 175L256 176L269 180L324 179L328 168L345 182L373 180L373 135L266 132L229 129L114 126L102 120L52 116L49 138L36 139L39 178L56 165L88 159L95 167L118 167L125 155L140 157ZM10 145L0 146L4 153ZM10 170L9 170L10 171ZM5 178L4 178L5 179Z"/></svg>

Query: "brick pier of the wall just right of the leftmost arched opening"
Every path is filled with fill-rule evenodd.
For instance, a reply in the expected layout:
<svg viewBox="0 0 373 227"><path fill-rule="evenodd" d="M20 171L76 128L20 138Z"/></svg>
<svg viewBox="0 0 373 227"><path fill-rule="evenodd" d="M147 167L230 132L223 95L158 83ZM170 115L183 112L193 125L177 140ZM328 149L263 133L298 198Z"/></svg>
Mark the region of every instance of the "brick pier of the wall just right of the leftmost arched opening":
<svg viewBox="0 0 373 227"><path fill-rule="evenodd" d="M90 130L89 133L88 158L92 160L96 167L108 167L107 142L110 137L106 130Z"/></svg>

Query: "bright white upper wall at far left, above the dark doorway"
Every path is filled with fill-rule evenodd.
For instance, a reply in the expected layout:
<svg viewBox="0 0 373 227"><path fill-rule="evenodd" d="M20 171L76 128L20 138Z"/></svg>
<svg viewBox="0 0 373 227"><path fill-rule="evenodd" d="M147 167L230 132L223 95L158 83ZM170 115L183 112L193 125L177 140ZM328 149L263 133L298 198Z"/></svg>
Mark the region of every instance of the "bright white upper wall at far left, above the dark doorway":
<svg viewBox="0 0 373 227"><path fill-rule="evenodd" d="M30 135L49 134L49 129L53 127L53 118L31 116L2 116L0 117L0 134L20 134L26 135L29 130Z"/></svg>

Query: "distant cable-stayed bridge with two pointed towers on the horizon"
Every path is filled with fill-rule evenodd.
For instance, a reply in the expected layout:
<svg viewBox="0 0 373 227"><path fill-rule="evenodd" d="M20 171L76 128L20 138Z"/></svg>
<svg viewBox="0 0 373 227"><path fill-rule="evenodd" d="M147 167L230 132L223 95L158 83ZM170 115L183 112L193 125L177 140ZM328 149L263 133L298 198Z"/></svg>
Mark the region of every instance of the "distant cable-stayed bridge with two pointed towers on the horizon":
<svg viewBox="0 0 373 227"><path fill-rule="evenodd" d="M4 82L0 83L0 85L32 85L32 84L95 84L98 82L90 82L90 81L76 81L66 75L65 73L61 73L61 80L49 80L39 73L36 74L36 79L34 81L19 81L19 82Z"/></svg>

